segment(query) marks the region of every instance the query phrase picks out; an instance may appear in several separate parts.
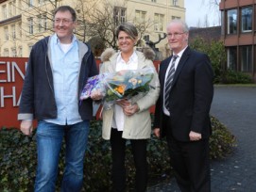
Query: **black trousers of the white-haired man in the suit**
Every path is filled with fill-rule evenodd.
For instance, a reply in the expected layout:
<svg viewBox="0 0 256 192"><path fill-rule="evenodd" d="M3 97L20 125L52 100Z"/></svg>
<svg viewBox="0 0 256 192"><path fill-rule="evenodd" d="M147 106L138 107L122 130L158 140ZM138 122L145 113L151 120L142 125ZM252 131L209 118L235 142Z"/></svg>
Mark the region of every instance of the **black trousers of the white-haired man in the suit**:
<svg viewBox="0 0 256 192"><path fill-rule="evenodd" d="M171 120L165 122L171 166L174 168L179 189L181 192L210 192L209 139L179 141L171 134Z"/></svg>

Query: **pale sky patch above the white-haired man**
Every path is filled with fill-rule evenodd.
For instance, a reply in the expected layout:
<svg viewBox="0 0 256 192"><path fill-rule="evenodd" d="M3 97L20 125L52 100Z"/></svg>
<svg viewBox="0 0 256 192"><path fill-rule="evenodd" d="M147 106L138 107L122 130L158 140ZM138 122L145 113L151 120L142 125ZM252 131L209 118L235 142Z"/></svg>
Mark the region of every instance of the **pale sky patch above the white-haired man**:
<svg viewBox="0 0 256 192"><path fill-rule="evenodd" d="M210 8L210 6L207 4L207 0L205 0L204 4L201 3L201 0L185 0L186 23L188 26L204 27L206 17L209 26L220 25L218 8Z"/></svg>

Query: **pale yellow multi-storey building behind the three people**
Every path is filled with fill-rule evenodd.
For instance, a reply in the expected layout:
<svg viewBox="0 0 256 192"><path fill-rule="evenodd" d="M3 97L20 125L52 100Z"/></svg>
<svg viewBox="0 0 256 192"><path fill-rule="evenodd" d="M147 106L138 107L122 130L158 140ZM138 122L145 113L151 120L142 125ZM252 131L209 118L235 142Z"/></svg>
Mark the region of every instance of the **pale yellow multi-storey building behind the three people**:
<svg viewBox="0 0 256 192"><path fill-rule="evenodd" d="M53 33L52 13L60 5L77 10L78 39L96 37L97 30L90 30L101 26L94 23L95 13L103 16L109 12L113 24L130 22L141 27L139 46L149 43L162 57L169 55L166 39L159 39L164 38L166 24L175 18L185 19L184 0L0 0L0 56L29 56L37 40Z"/></svg>

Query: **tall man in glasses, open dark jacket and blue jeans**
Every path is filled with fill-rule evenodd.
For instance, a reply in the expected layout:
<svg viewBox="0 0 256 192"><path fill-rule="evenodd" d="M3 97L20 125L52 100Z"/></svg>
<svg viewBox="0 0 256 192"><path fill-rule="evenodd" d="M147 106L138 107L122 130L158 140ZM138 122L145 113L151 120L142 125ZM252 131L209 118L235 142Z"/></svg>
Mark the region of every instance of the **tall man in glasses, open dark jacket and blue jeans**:
<svg viewBox="0 0 256 192"><path fill-rule="evenodd" d="M21 131L31 135L38 120L38 167L35 191L55 191L62 139L65 138L65 169L61 191L80 191L93 101L79 101L88 77L97 74L90 47L73 34L77 14L61 6L54 13L55 34L32 48L18 120Z"/></svg>

